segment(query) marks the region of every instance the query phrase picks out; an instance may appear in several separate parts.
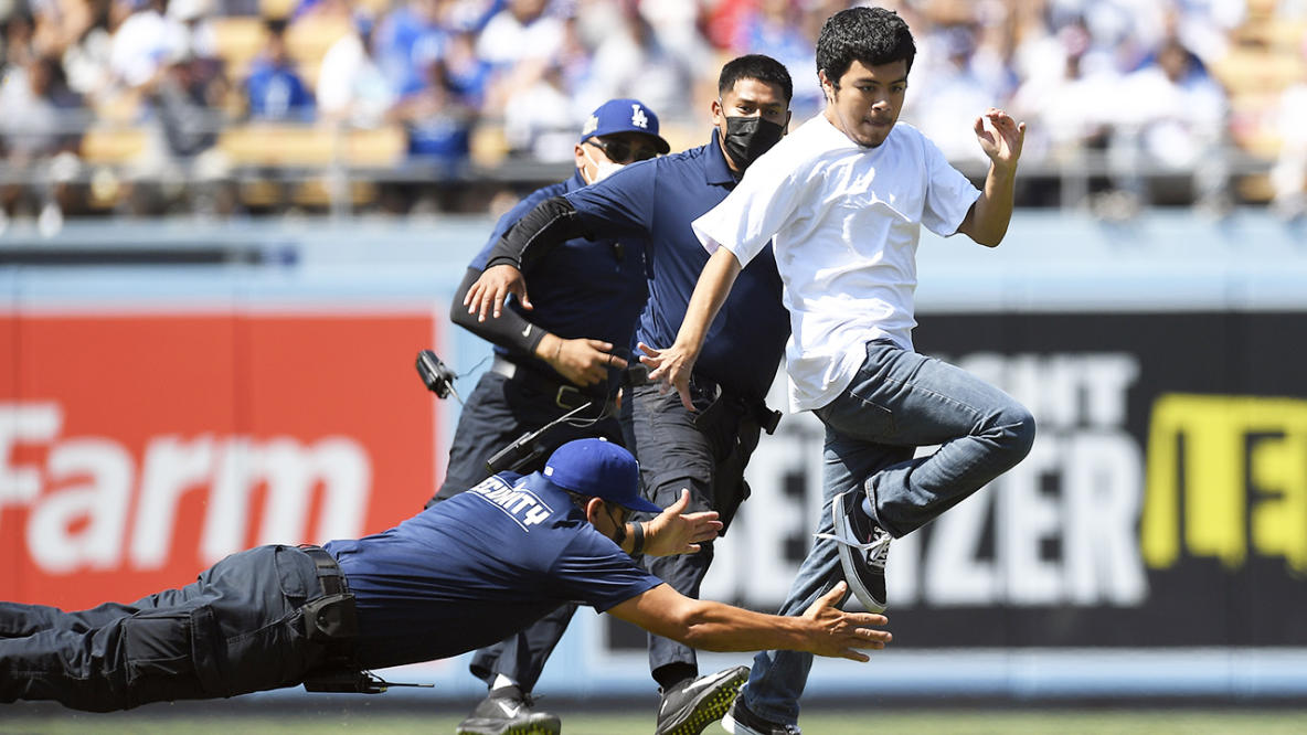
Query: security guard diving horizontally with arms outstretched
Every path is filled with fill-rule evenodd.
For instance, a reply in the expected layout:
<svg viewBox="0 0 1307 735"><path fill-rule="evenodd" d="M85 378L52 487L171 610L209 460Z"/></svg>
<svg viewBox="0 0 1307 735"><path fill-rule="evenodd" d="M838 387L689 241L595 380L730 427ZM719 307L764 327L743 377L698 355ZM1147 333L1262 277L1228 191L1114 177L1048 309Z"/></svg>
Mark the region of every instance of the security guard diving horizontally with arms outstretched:
<svg viewBox="0 0 1307 735"><path fill-rule="evenodd" d="M843 586L801 617L677 594L629 553L693 553L720 523L711 513L682 514L686 498L648 523L629 522L630 511L657 510L639 497L638 476L622 447L580 439L541 472L495 475L383 534L323 548L259 547L132 604L64 612L0 603L0 702L110 711L308 688L340 672L367 679L370 667L498 641L574 600L711 650L868 660L857 649L890 641L869 628L882 616L835 607ZM746 675L736 667L678 701L699 723L693 732L724 714ZM529 726L559 731L548 715Z"/></svg>

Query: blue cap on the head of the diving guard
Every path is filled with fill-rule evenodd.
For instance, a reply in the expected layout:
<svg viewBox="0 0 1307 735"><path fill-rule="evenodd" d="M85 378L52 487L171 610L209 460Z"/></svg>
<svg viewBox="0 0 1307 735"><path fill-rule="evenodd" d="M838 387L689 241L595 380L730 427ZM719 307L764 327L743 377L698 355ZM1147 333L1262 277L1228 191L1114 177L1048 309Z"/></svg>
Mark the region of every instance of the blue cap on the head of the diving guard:
<svg viewBox="0 0 1307 735"><path fill-rule="evenodd" d="M576 439L554 450L545 463L550 483L631 510L663 513L640 497L640 466L625 449L605 439Z"/></svg>

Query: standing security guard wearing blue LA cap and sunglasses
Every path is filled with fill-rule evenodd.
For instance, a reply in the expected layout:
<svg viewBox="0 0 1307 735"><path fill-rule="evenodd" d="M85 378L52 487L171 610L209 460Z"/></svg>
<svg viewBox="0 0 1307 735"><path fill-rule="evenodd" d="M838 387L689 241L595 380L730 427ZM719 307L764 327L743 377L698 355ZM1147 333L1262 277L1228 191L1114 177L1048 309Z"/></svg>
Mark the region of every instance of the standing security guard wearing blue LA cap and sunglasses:
<svg viewBox="0 0 1307 735"><path fill-rule="evenodd" d="M494 362L463 405L444 484L429 506L484 480L486 460L498 450L587 403L591 408L575 421L558 424L538 438L541 450L548 454L580 437L622 442L613 399L646 301L644 238L578 237L563 242L528 271L536 286L529 311L510 303L502 319L481 322L463 307L463 298L485 268L491 247L537 203L579 191L626 163L668 150L652 110L639 99L610 99L582 128L572 152L572 177L536 190L499 218L468 265L450 310L456 324L495 345ZM544 456L524 470L538 470L542 462ZM460 732L494 734L533 717L531 691L575 609L574 604L561 606L531 628L477 651L471 670L490 692L477 705L481 714L473 713L473 722L460 726ZM489 711L511 714L491 723Z"/></svg>

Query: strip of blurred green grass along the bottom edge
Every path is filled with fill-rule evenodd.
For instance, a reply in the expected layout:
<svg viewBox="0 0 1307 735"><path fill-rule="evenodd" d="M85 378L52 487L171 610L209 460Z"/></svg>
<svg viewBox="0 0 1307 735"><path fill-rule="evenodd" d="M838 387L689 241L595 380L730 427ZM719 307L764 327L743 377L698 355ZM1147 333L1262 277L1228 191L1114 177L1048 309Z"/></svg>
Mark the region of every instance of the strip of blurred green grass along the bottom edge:
<svg viewBox="0 0 1307 735"><path fill-rule="evenodd" d="M652 732L652 713L638 715L589 713L582 709L555 710L563 717L565 735L625 735ZM322 735L325 732L367 732L378 735L408 732L454 732L461 714L439 713L382 714L366 711L324 711L306 715L223 715L170 714L56 714L5 717L0 708L0 732L5 734L90 734L97 735ZM817 710L804 715L806 735L1043 735L1070 734L1148 734L1148 735L1227 735L1246 732L1302 735L1307 732L1307 709L1238 710ZM710 726L706 735L724 732Z"/></svg>

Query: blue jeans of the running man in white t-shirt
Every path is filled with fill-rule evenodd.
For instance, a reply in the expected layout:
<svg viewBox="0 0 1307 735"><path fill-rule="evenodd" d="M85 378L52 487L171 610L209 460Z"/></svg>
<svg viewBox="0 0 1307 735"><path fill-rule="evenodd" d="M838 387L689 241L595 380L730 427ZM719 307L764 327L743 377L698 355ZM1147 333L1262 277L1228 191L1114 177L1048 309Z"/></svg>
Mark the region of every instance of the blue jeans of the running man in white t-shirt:
<svg viewBox="0 0 1307 735"><path fill-rule="evenodd" d="M1014 467L1035 438L1035 420L1012 396L889 340L868 343L853 382L814 413L826 425L818 534L834 534L835 496L859 488L870 501L863 509L870 506L881 528L895 538L910 534ZM912 456L929 445L940 449ZM802 615L843 578L835 541L817 540L778 615ZM759 653L741 694L745 706L797 725L812 663L812 654Z"/></svg>

